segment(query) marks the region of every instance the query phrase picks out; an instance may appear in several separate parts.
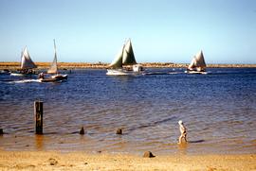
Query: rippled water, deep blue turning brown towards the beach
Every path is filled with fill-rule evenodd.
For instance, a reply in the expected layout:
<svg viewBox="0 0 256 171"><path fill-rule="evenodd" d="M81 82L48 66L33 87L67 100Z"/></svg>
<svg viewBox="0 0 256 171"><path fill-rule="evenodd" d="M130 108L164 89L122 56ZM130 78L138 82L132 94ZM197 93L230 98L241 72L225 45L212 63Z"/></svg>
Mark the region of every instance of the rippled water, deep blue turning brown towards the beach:
<svg viewBox="0 0 256 171"><path fill-rule="evenodd" d="M74 70L62 83L0 75L0 128L7 133L0 150L256 152L256 68L209 69L209 75L157 71L172 74L109 77L105 70ZM44 101L43 136L33 132L37 99ZM180 119L188 145L176 144ZM82 126L83 136L76 133ZM118 128L123 135L116 135Z"/></svg>

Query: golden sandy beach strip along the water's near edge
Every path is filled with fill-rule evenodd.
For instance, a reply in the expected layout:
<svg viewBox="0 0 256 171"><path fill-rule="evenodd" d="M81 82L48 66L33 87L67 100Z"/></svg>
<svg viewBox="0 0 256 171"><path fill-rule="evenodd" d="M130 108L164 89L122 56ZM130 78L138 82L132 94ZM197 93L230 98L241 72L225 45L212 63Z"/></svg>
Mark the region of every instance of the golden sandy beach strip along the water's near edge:
<svg viewBox="0 0 256 171"><path fill-rule="evenodd" d="M0 151L0 170L256 170L256 154L142 155Z"/></svg>

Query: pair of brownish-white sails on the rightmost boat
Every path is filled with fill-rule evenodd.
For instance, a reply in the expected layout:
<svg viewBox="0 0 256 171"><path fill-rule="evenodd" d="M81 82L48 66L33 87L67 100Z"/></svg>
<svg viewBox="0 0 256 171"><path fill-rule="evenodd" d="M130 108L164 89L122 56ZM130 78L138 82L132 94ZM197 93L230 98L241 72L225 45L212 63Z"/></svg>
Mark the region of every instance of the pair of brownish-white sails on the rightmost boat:
<svg viewBox="0 0 256 171"><path fill-rule="evenodd" d="M197 71L204 71L206 69L206 62L202 50L192 58L192 62L188 69Z"/></svg>

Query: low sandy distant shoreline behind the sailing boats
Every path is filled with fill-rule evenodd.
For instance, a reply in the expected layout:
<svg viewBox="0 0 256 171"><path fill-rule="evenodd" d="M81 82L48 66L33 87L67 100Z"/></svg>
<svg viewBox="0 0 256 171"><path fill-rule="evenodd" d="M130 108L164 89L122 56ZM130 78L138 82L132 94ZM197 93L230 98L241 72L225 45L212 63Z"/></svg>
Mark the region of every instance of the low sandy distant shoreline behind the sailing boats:
<svg viewBox="0 0 256 171"><path fill-rule="evenodd" d="M35 62L38 69L46 69L50 62ZM145 68L187 68L189 63L172 62L145 62L140 63ZM58 62L60 69L106 69L109 63L89 63L89 62ZM19 69L20 62L0 61L0 69ZM207 64L208 68L256 68L256 64Z"/></svg>

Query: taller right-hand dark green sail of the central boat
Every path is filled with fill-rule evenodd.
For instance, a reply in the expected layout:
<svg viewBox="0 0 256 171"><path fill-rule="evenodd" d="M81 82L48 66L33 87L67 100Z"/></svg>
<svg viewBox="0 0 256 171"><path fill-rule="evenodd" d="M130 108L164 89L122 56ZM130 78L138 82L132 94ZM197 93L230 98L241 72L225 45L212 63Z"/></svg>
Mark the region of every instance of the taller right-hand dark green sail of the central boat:
<svg viewBox="0 0 256 171"><path fill-rule="evenodd" d="M137 61L135 59L133 46L132 46L132 43L131 43L130 39L128 40L128 42L124 46L123 56L122 56L122 64L126 64L126 65L137 64Z"/></svg>

